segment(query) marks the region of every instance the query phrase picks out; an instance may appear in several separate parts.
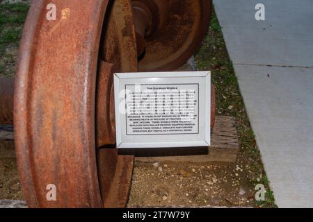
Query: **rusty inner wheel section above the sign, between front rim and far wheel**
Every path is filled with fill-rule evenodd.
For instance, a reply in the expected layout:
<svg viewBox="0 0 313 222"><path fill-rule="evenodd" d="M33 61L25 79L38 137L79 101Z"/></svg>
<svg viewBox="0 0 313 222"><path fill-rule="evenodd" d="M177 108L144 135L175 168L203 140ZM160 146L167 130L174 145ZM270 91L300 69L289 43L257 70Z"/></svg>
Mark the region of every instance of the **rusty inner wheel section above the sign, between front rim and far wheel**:
<svg viewBox="0 0 313 222"><path fill-rule="evenodd" d="M120 72L138 71L136 31L130 0L109 2L100 45L100 58Z"/></svg>

